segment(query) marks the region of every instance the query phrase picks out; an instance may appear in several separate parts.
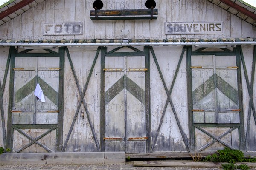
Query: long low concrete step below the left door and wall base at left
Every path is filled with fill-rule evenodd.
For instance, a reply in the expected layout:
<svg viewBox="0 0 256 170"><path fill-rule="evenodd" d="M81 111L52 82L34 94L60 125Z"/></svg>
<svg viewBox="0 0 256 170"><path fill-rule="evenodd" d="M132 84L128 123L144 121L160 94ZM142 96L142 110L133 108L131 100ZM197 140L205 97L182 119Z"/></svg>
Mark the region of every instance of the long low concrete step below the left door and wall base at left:
<svg viewBox="0 0 256 170"><path fill-rule="evenodd" d="M4 153L0 164L125 164L125 152Z"/></svg>

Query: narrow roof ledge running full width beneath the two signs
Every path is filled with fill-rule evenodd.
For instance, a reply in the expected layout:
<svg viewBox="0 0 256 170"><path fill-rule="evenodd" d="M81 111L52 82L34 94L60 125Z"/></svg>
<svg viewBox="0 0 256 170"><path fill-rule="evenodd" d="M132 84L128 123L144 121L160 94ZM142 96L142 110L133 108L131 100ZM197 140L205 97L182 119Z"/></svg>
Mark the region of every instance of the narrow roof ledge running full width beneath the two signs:
<svg viewBox="0 0 256 170"><path fill-rule="evenodd" d="M256 45L256 39L118 39L118 40L1 40L0 46L18 47L66 47L66 46L171 46L171 45L207 45L235 46Z"/></svg>

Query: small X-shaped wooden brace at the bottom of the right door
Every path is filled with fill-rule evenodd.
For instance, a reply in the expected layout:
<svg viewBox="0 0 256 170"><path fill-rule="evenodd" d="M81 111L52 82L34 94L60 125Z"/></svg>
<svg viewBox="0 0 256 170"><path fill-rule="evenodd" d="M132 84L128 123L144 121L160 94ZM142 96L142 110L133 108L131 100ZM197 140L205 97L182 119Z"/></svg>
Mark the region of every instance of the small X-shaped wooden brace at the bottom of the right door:
<svg viewBox="0 0 256 170"><path fill-rule="evenodd" d="M209 142L208 144L206 144L207 146L205 145L203 149L205 149L205 148L208 147L210 144L212 144L212 143L214 143L214 142L216 142L216 141L218 141L218 142L220 142L220 143L226 145L226 146L229 147L230 149L236 149L236 148L230 146L229 144L227 144L226 142L223 142L223 141L221 140L221 138L222 138L223 136L227 135L228 133L230 133L231 131L235 130L237 127L233 127L232 129L227 130L225 133L221 134L221 135L218 136L218 137L212 135L211 133L207 132L206 130L204 130L203 128L201 128L201 127L199 127L199 126L194 125L194 127L198 128L199 130L201 130L202 132L204 132L205 134L207 134L208 136L210 136L210 137L212 137L212 138L214 139L213 141L211 141L211 142ZM202 148L202 147L201 147L201 148ZM201 148L200 148L199 150L202 150Z"/></svg>

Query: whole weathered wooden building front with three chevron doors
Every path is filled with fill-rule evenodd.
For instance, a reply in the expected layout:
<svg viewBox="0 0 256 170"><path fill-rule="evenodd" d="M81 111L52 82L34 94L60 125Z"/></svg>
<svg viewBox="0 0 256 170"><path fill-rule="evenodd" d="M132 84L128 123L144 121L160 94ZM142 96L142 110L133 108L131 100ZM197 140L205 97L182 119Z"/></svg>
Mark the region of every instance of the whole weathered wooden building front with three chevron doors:
<svg viewBox="0 0 256 170"><path fill-rule="evenodd" d="M0 147L256 152L256 8L24 1L0 7Z"/></svg>

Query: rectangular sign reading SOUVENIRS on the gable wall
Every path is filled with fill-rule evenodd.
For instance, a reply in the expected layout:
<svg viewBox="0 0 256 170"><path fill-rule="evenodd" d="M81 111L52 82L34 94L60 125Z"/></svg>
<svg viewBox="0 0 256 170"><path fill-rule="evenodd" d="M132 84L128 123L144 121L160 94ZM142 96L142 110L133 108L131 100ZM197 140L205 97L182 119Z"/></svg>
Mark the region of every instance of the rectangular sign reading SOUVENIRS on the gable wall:
<svg viewBox="0 0 256 170"><path fill-rule="evenodd" d="M223 34L222 22L166 22L165 34Z"/></svg>

